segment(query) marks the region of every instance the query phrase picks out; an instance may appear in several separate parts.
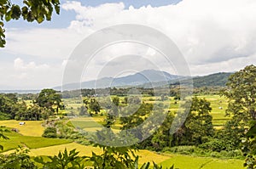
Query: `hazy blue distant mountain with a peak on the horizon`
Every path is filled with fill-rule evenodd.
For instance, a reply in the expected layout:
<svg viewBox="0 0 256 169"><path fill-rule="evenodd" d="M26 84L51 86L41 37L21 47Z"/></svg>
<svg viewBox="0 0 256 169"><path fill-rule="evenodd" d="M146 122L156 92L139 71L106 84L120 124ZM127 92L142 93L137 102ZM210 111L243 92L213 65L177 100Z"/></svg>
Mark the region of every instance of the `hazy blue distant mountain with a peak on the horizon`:
<svg viewBox="0 0 256 169"><path fill-rule="evenodd" d="M63 86L64 90L73 90L81 88L105 88L105 87L131 87L140 86L145 83L154 82L169 82L177 80L182 76L171 75L166 71L160 70L143 70L136 74L122 77L104 77L94 81L82 82L81 86L78 83L66 84ZM54 89L61 90L61 87L54 87Z"/></svg>

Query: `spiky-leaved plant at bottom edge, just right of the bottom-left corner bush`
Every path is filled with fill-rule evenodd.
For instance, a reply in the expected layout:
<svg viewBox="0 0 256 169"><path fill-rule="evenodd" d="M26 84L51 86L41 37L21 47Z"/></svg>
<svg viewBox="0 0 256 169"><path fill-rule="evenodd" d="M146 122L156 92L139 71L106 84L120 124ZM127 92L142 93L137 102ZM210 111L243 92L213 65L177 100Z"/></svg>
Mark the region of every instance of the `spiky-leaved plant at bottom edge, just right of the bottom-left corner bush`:
<svg viewBox="0 0 256 169"><path fill-rule="evenodd" d="M36 157L34 160L43 165L47 169L84 169L83 160L84 156L79 156L79 152L73 149L67 152L59 152L58 155L47 156L48 161L44 161L42 157Z"/></svg>

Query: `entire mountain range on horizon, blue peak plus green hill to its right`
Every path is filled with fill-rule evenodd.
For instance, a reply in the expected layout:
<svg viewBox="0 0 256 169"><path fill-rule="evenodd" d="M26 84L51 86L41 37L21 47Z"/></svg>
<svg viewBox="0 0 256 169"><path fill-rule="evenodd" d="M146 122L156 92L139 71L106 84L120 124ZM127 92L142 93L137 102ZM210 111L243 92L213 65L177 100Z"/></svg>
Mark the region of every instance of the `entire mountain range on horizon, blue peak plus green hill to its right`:
<svg viewBox="0 0 256 169"><path fill-rule="evenodd" d="M103 77L97 80L70 83L63 85L63 90L74 90L81 88L105 88L105 87L152 87L162 86L166 84L186 84L189 82L188 79L193 78L195 87L202 86L224 86L228 80L228 77L232 73L215 73L208 76L177 76L171 75L166 71L160 70L143 70L133 75L122 76L122 77ZM54 87L55 90L61 90L61 86Z"/></svg>

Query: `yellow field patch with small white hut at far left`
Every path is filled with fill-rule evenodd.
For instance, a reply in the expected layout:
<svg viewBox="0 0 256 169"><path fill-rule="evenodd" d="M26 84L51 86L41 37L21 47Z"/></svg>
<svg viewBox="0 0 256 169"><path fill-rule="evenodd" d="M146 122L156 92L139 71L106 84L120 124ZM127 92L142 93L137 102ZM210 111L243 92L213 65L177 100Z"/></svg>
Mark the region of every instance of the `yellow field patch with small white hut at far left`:
<svg viewBox="0 0 256 169"><path fill-rule="evenodd" d="M40 137L44 132L44 127L42 127L43 121L25 121L26 124L21 126L20 121L0 121L0 126L5 126L9 128L17 128L19 133L24 136L34 136Z"/></svg>

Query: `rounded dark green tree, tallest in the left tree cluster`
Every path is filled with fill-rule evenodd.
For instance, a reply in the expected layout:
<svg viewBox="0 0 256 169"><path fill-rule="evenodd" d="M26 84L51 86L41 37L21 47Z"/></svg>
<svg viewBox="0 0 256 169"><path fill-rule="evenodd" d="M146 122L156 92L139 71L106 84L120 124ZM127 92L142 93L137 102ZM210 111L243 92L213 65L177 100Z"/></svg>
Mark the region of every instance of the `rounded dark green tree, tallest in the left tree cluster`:
<svg viewBox="0 0 256 169"><path fill-rule="evenodd" d="M57 93L54 89L45 88L38 94L36 103L40 107L52 110L52 112L56 110L58 113L58 110L61 107L61 94ZM54 107L56 108L54 109Z"/></svg>

